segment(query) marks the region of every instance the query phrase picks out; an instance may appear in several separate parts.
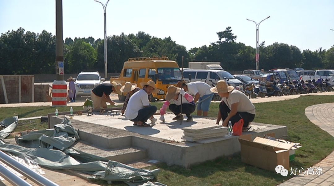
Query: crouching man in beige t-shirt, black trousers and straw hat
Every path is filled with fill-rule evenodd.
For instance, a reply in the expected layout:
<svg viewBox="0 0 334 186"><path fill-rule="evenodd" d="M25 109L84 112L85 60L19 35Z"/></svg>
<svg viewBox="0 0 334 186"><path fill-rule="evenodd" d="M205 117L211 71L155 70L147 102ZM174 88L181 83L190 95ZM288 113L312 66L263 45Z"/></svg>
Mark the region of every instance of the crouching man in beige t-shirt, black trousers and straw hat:
<svg viewBox="0 0 334 186"><path fill-rule="evenodd" d="M243 128L247 128L249 122L254 120L255 106L244 93L234 90L234 87L227 85L224 80L219 80L217 85L211 88L211 91L222 97L216 124L219 124L222 119L223 126L227 126L228 121L234 125L243 119Z"/></svg>

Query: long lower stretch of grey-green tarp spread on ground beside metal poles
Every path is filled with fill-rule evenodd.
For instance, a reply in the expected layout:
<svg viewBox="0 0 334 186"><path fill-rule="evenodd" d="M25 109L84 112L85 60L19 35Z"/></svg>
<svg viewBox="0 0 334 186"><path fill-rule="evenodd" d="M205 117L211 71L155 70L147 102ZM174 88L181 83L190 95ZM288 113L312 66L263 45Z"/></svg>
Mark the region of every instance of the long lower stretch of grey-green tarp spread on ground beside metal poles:
<svg viewBox="0 0 334 186"><path fill-rule="evenodd" d="M71 169L94 175L95 179L106 181L144 182L154 179L159 169L145 170L130 167L116 161L92 161L81 163L60 150L46 148L25 148L18 145L2 144L0 150L19 157L29 157L38 165L50 169ZM74 149L67 149L72 154L80 154ZM92 156L94 159L95 157Z"/></svg>

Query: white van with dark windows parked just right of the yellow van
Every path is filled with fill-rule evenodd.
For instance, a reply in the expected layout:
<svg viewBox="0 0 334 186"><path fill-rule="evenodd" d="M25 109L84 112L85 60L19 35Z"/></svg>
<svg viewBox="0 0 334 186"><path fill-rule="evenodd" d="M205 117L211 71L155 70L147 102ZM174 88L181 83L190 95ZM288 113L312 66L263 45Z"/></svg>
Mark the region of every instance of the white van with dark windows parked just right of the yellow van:
<svg viewBox="0 0 334 186"><path fill-rule="evenodd" d="M203 81L212 87L216 86L217 81L221 79L225 79L233 87L239 88L239 86L242 86L241 81L224 70L187 69L183 70L183 77L187 82Z"/></svg>

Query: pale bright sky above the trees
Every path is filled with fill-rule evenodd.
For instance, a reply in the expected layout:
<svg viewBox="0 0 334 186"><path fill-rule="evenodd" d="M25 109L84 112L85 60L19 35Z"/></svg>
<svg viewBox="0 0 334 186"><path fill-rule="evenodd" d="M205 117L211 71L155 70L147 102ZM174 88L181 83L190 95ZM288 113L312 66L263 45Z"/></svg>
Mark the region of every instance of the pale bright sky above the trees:
<svg viewBox="0 0 334 186"><path fill-rule="evenodd" d="M106 3L107 0L101 0ZM104 37L103 7L94 0L63 0L63 39ZM334 0L110 0L107 35L143 31L171 37L187 50L210 45L217 32L231 27L236 42L295 45L301 50L334 45ZM17 30L55 34L55 0L0 0L0 33Z"/></svg>

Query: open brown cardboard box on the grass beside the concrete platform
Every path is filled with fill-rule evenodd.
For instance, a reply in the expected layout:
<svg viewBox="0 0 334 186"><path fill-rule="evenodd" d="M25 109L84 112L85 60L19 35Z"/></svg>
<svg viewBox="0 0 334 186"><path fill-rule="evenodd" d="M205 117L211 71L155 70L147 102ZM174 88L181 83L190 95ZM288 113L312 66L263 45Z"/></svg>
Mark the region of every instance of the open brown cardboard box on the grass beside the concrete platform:
<svg viewBox="0 0 334 186"><path fill-rule="evenodd" d="M238 138L241 146L241 161L255 167L275 172L277 165L290 168L289 151L294 144L271 139L242 135Z"/></svg>

